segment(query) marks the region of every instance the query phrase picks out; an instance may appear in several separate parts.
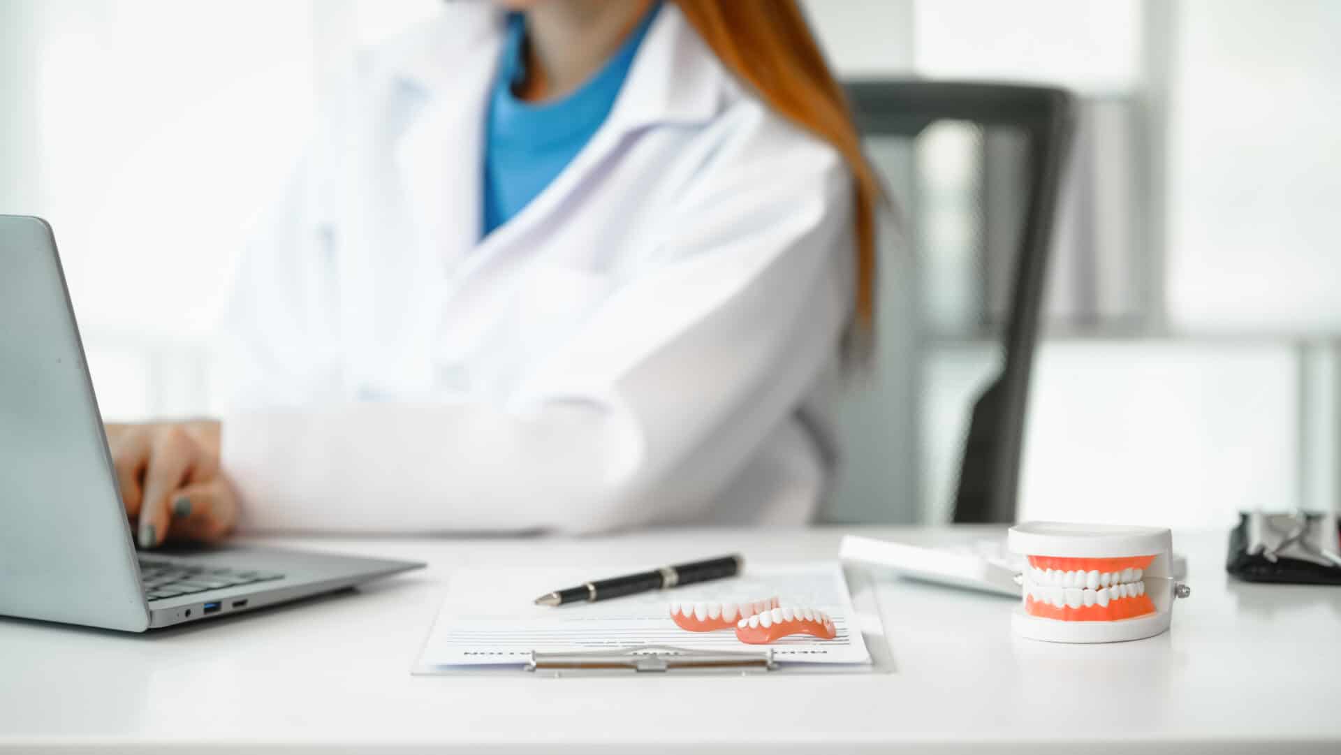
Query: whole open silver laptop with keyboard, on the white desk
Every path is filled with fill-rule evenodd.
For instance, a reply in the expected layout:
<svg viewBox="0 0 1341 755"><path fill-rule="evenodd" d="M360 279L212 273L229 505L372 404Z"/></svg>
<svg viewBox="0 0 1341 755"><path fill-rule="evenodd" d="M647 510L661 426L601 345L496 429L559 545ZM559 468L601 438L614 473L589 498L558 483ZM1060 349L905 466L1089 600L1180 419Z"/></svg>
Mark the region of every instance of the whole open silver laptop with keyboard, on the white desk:
<svg viewBox="0 0 1341 755"><path fill-rule="evenodd" d="M145 632L422 566L229 546L137 553L51 227L0 216L0 616Z"/></svg>

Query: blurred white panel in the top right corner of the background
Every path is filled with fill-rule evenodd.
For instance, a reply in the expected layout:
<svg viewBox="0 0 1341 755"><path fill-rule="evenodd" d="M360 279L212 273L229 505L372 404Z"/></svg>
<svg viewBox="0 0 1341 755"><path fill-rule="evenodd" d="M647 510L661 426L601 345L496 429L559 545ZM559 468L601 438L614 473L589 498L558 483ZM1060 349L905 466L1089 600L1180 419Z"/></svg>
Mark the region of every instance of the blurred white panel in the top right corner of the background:
<svg viewBox="0 0 1341 755"><path fill-rule="evenodd" d="M1171 323L1341 333L1341 3L1177 9Z"/></svg>

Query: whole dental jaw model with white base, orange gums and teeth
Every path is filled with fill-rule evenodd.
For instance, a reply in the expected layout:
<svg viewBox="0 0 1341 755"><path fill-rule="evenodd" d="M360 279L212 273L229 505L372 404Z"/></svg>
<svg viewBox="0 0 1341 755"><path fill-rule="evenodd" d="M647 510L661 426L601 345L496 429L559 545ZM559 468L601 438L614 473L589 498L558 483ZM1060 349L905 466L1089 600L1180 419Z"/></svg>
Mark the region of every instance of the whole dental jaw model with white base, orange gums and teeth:
<svg viewBox="0 0 1341 755"><path fill-rule="evenodd" d="M1011 553L1027 559L1023 599L1011 624L1050 642L1120 642L1169 628L1172 534L1160 527L1029 522L1010 528Z"/></svg>

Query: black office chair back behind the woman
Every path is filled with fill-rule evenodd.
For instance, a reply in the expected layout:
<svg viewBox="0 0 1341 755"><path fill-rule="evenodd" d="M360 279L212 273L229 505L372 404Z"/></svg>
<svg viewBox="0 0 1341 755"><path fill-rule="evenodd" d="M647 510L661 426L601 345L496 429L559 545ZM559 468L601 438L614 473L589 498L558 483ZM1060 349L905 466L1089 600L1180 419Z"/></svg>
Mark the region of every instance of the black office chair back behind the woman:
<svg viewBox="0 0 1341 755"><path fill-rule="evenodd" d="M1073 98L1062 90L972 82L916 79L853 80L846 84L858 126L868 137L915 139L931 125L957 121L1023 137L1019 177L1023 217L1010 228L1018 239L1008 264L1010 291L1002 312L984 307L983 331L1003 346L1000 373L978 397L964 440L953 522L1015 520L1025 408L1043 300L1062 166L1074 119ZM986 287L984 287L986 288Z"/></svg>

